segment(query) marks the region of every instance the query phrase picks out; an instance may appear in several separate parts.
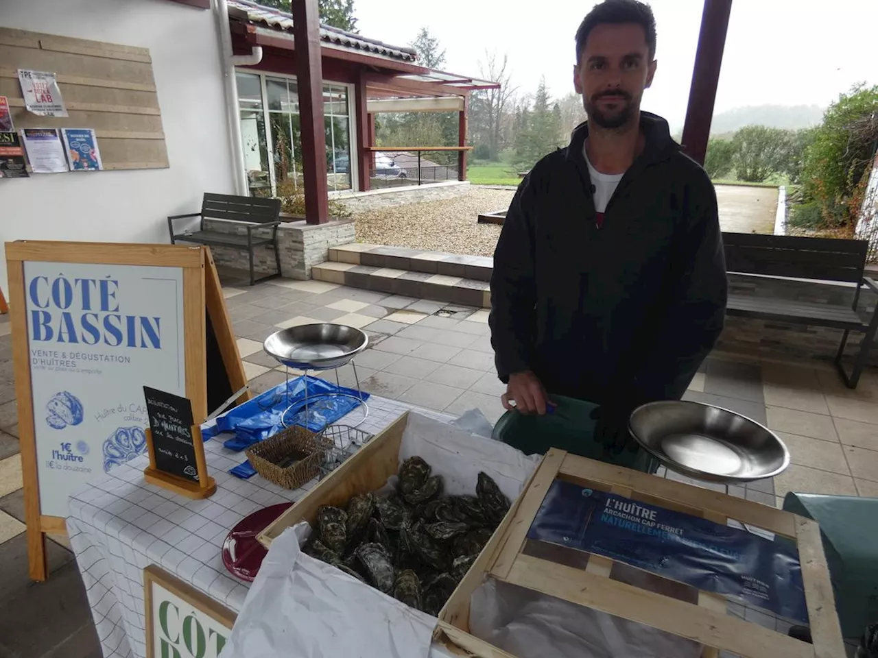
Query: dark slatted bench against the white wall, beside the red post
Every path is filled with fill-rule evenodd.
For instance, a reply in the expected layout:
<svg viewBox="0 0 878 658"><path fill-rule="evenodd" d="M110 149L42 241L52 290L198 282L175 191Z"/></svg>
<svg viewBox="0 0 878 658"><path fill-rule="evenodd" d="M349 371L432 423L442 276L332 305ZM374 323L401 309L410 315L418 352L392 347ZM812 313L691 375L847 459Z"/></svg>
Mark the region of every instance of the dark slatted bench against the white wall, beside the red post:
<svg viewBox="0 0 878 658"><path fill-rule="evenodd" d="M199 245L210 247L237 247L247 249L250 261L250 285L257 281L273 279L280 276L280 250L277 247L277 226L280 225L280 199L267 199L260 197L234 197L228 194L212 194L205 192L205 198L201 204L201 212L191 212L187 215L173 215L168 218L168 230L171 244L176 242L195 242ZM174 231L174 220L199 217L198 231ZM205 219L220 219L229 224L244 225L247 234L226 233L221 231L205 230ZM270 236L254 235L258 229L271 229ZM255 278L254 259L255 248L263 245L273 245L277 273Z"/></svg>

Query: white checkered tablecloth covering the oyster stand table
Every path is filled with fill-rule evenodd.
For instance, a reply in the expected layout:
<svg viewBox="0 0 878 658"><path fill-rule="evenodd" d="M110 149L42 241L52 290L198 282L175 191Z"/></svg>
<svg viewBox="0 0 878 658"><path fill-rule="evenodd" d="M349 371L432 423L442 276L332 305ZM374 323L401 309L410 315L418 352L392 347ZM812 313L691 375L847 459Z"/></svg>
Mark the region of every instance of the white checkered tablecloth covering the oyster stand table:
<svg viewBox="0 0 878 658"><path fill-rule="evenodd" d="M414 408L375 396L368 404L369 416L360 429L375 434ZM452 419L435 411L417 411L438 420ZM356 423L363 411L351 411L349 418L349 423ZM228 469L244 456L222 447L222 440L206 441L205 456L217 491L204 500L147 484L143 479L146 456L113 468L88 490L70 497L70 544L104 658L146 656L143 569L149 564L239 612L249 583L231 576L222 563L222 544L229 530L262 507L298 500L317 483L313 480L301 489L284 490L260 476L249 480L231 476Z"/></svg>

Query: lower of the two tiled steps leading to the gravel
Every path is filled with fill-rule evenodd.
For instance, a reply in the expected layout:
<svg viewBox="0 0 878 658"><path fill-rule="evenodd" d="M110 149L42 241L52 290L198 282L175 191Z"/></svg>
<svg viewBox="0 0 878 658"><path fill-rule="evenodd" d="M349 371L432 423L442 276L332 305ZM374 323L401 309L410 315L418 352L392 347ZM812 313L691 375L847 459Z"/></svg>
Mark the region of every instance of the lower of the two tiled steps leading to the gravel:
<svg viewBox="0 0 878 658"><path fill-rule="evenodd" d="M317 281L386 292L388 295L491 308L490 284L463 276L326 261L311 268L311 277Z"/></svg>

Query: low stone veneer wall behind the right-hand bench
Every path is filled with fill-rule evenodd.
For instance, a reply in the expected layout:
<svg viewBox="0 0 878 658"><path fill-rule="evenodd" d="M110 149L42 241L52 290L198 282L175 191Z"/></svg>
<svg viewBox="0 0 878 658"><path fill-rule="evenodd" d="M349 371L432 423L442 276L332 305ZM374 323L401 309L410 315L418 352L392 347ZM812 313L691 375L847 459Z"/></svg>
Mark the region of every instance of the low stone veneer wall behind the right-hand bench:
<svg viewBox="0 0 878 658"><path fill-rule="evenodd" d="M729 275L729 291L759 297L780 297L811 304L853 303L853 286L781 281L770 277ZM860 317L871 318L878 298L870 290L860 291ZM723 352L749 354L766 358L795 358L831 362L841 340L841 330L828 327L772 322L754 318L727 316L725 329L716 345ZM860 349L862 333L851 333L846 354ZM878 366L878 346L872 347L869 364Z"/></svg>

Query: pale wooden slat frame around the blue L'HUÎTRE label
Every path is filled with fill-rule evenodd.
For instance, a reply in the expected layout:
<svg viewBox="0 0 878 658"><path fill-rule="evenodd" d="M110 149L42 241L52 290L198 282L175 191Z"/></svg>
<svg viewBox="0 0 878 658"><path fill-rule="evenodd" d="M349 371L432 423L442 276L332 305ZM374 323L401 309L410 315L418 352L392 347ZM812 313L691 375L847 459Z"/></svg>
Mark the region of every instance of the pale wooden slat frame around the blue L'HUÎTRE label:
<svg viewBox="0 0 878 658"><path fill-rule="evenodd" d="M730 616L726 613L725 597L710 592L693 590L695 596L689 603L611 579L610 570L615 562L601 555L587 554L587 566L576 569L524 554L530 525L551 483L558 477L723 525L727 519L737 519L795 540L802 563L802 581L814 644ZM746 658L838 658L845 655L820 528L816 522L763 504L561 450L551 449L545 455L522 496L439 615L436 639L450 640L481 658L514 658L469 633L470 597L486 576L695 640L704 645L705 656L715 656L719 650Z"/></svg>

